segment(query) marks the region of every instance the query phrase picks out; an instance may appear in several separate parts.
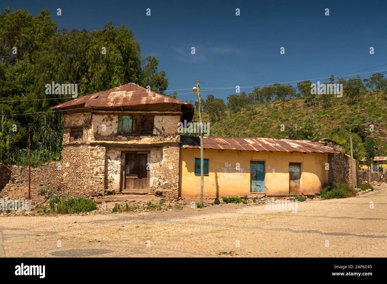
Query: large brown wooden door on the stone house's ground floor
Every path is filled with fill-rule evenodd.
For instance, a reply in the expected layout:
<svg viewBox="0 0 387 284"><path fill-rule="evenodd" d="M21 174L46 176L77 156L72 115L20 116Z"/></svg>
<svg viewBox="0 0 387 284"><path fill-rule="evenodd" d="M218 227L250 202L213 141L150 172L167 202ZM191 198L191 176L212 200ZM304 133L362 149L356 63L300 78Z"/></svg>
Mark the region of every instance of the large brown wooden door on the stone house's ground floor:
<svg viewBox="0 0 387 284"><path fill-rule="evenodd" d="M147 190L148 177L147 154L126 154L124 189Z"/></svg>

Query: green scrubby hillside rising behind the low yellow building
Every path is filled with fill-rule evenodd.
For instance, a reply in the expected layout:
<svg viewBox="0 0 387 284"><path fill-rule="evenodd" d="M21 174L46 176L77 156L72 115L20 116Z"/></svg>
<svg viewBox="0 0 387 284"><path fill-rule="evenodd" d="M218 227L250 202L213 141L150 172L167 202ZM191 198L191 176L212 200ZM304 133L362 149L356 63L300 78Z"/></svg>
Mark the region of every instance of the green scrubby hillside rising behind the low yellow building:
<svg viewBox="0 0 387 284"><path fill-rule="evenodd" d="M204 111L203 120L211 121L209 111ZM194 121L199 121L197 111ZM219 121L210 122L210 136L328 138L343 144L348 153L349 129L352 129L354 156L362 158L362 143L367 136L375 138L377 156L387 155L386 121L387 90L361 90L352 104L344 92L342 98L332 99L330 107L311 105L305 98L296 97L248 105L235 113L227 108ZM370 131L372 125L374 131Z"/></svg>

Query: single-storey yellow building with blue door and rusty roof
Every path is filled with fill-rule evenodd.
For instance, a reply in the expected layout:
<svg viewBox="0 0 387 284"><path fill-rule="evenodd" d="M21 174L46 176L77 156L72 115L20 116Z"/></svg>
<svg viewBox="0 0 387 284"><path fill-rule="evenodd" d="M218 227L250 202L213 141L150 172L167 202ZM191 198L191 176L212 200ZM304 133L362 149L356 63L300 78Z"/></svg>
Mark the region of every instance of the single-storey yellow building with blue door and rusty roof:
<svg viewBox="0 0 387 284"><path fill-rule="evenodd" d="M212 143L214 139L228 144ZM264 139L263 143L267 143L263 145L264 149L275 147L273 151L214 149L231 148L233 142L230 143L228 139L233 138L204 138L204 197L244 196L259 192L267 196L320 193L324 184L328 183L328 153L337 153L324 146L314 147L316 152L309 152L315 144L300 146L296 144L297 141L286 139ZM248 139L246 144L259 147L256 139L262 141L263 138L256 138L254 141L251 140L253 138L239 139ZM194 141L193 144L190 143L191 140L192 138L183 138L183 146L180 148L181 197L198 197L200 194L200 143ZM293 148L285 151L286 146L283 143L289 143ZM237 144L235 148L248 148L244 143ZM262 143L259 145L262 146ZM259 174L261 178L257 181ZM262 187L256 186L259 182Z"/></svg>

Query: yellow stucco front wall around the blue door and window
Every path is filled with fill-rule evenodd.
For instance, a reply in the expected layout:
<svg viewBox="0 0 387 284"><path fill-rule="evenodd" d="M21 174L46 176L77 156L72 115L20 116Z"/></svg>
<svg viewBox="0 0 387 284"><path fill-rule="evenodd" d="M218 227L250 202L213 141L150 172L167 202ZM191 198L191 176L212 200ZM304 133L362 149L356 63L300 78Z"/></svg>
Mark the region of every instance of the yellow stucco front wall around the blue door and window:
<svg viewBox="0 0 387 284"><path fill-rule="evenodd" d="M200 196L200 174L195 175L195 158L200 149L180 148L181 197ZM235 150L204 150L209 159L209 174L204 175L204 197L250 195L250 161L265 162L265 192L269 196L289 195L289 162L301 163L300 191L319 193L328 182L326 153L283 153ZM237 171L236 163L240 163Z"/></svg>

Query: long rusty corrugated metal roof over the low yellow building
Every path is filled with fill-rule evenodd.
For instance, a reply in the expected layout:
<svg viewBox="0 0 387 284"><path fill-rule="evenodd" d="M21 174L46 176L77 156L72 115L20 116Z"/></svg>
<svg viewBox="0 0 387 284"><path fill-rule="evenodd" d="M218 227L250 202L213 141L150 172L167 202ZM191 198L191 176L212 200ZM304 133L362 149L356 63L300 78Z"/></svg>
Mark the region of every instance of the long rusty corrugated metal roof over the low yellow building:
<svg viewBox="0 0 387 284"><path fill-rule="evenodd" d="M198 136L181 136L183 148L200 148ZM339 153L318 142L308 140L271 139L256 137L204 137L204 149L304 152L304 153Z"/></svg>

